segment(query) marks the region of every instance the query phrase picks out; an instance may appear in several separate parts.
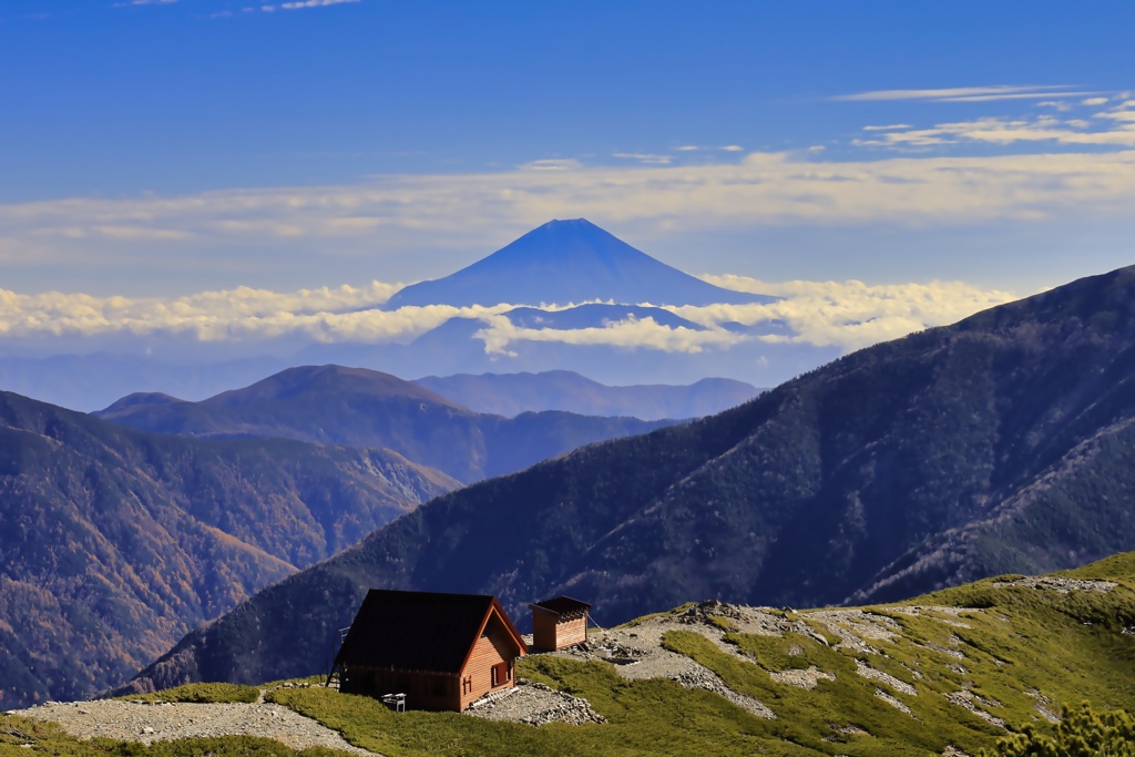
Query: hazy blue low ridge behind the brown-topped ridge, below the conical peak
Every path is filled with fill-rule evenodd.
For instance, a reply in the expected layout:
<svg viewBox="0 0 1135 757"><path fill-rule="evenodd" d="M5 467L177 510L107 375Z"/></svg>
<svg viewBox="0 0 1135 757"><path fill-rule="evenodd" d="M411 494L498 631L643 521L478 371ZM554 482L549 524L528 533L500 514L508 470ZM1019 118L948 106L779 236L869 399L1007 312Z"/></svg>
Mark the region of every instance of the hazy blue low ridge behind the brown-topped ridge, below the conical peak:
<svg viewBox="0 0 1135 757"><path fill-rule="evenodd" d="M701 418L759 394L756 387L733 379L709 378L689 386L606 386L572 371L427 376L414 384L478 412L505 417L561 410L644 420Z"/></svg>

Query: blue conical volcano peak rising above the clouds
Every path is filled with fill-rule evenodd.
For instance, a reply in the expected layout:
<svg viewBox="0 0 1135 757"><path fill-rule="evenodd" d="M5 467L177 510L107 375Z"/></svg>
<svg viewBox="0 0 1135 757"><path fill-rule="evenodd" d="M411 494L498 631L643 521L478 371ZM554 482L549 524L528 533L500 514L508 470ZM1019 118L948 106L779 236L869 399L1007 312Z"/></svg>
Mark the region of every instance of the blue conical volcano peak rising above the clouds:
<svg viewBox="0 0 1135 757"><path fill-rule="evenodd" d="M708 305L772 302L774 297L707 284L577 218L548 221L468 268L407 286L386 306L538 305L588 300Z"/></svg>

